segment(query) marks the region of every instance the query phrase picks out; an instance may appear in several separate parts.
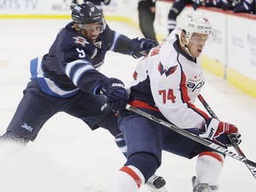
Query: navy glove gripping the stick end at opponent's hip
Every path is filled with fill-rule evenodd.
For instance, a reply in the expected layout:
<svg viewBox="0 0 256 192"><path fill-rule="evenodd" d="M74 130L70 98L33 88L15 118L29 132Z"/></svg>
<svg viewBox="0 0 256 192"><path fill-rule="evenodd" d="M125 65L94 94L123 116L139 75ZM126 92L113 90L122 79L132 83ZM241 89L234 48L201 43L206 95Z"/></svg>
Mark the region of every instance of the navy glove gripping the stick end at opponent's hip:
<svg viewBox="0 0 256 192"><path fill-rule="evenodd" d="M128 95L122 81L116 78L108 78L100 84L100 91L107 97L107 103L110 108L117 113L124 110Z"/></svg>

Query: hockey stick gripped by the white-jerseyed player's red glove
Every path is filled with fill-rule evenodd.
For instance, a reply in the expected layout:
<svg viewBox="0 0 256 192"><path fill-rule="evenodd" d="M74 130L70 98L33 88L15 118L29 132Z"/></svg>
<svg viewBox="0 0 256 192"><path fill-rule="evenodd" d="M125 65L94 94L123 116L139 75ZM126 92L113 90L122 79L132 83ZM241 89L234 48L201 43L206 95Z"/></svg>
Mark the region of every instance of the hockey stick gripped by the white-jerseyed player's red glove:
<svg viewBox="0 0 256 192"><path fill-rule="evenodd" d="M216 118L219 120L218 116L215 115L215 113L213 112L212 108L210 108L210 106L208 105L208 103L204 100L204 97L199 94L197 96L198 100L200 100L200 102L203 104L204 108L208 111L208 113L213 117L213 118ZM236 142L235 140L232 139L232 137L229 137L229 140L231 141L232 143L232 146L235 148L236 150L236 153L239 155L239 156L244 156L246 158L246 156L244 155L243 151L241 150L241 148L239 148L237 145L236 145ZM252 172L252 175L253 177L256 179L256 170L255 168L251 167L250 164L246 164L244 162L244 164L247 166L247 168L250 170L250 172Z"/></svg>

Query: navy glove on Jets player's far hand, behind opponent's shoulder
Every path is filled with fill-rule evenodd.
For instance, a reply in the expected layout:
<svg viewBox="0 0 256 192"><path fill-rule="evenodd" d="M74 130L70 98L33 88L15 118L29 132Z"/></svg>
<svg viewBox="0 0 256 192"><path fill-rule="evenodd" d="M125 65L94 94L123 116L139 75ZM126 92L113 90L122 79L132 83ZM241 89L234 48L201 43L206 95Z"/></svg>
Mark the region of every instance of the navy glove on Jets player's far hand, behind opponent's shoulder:
<svg viewBox="0 0 256 192"><path fill-rule="evenodd" d="M131 41L131 55L133 58L138 59L147 55L148 52L156 45L158 45L156 41L148 38L133 38Z"/></svg>

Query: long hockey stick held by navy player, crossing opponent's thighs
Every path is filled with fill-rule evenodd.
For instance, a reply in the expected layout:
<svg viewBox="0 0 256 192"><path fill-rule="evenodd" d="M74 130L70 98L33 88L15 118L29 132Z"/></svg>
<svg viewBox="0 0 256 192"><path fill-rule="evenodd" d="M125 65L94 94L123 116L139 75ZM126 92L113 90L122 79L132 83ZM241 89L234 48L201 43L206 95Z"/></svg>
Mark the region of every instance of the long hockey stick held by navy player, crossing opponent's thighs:
<svg viewBox="0 0 256 192"><path fill-rule="evenodd" d="M196 142L201 143L202 145L204 145L208 148L212 148L212 149L220 152L223 155L231 156L232 158L235 158L236 160L243 162L244 164L249 164L251 167L251 170L254 172L254 174L256 174L256 163L247 159L245 156L240 156L240 155L236 154L235 152L228 150L228 148L223 148L220 145L213 143L211 140L204 140L203 138L200 138L196 134L187 132L186 130L181 129L180 127L178 127L174 124L165 122L164 120L157 118L156 116L152 116L152 115L140 110L139 108L134 108L129 104L127 104L125 108L129 111L132 111L135 114L144 116L158 124L162 124L162 125L168 127L169 129L171 129L173 132L178 132L181 135L183 135L191 140L195 140Z"/></svg>

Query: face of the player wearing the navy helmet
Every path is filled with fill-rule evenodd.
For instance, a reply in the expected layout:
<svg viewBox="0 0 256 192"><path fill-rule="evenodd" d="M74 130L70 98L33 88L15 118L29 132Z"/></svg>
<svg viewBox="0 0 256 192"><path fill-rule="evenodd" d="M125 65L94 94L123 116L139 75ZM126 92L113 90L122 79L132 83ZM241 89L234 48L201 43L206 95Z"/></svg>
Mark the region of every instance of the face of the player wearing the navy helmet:
<svg viewBox="0 0 256 192"><path fill-rule="evenodd" d="M84 24L80 28L82 28L83 35L86 36L93 44L96 42L96 39L101 32L102 25L100 25L100 23Z"/></svg>

